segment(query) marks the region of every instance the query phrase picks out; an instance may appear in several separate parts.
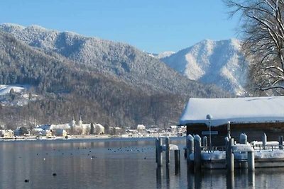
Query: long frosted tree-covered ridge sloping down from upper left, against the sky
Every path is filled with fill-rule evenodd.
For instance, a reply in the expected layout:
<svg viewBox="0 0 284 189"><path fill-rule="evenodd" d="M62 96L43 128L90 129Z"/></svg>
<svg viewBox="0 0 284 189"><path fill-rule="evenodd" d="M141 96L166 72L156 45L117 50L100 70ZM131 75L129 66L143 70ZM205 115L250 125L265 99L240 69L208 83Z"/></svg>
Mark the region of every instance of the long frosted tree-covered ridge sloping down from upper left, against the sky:
<svg viewBox="0 0 284 189"><path fill-rule="evenodd" d="M0 30L10 33L26 45L48 54L55 52L149 93L168 92L197 96L195 92L200 91L200 96L207 96L209 93L211 96L214 91L219 91L217 88L207 90L206 85L183 77L159 59L121 42L47 30L38 25L23 27L4 23L0 25Z"/></svg>

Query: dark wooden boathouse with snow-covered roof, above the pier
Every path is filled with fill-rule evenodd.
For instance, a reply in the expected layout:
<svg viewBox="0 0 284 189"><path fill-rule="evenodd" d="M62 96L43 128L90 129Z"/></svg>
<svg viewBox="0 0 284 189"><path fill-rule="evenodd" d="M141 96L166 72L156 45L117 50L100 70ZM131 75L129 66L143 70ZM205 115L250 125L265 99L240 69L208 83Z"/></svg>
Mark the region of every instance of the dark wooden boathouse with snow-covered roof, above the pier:
<svg viewBox="0 0 284 189"><path fill-rule="evenodd" d="M211 134L212 145L224 145L228 132L237 142L241 133L249 142L261 141L263 132L278 140L284 136L284 97L190 98L180 125L186 125L187 134Z"/></svg>

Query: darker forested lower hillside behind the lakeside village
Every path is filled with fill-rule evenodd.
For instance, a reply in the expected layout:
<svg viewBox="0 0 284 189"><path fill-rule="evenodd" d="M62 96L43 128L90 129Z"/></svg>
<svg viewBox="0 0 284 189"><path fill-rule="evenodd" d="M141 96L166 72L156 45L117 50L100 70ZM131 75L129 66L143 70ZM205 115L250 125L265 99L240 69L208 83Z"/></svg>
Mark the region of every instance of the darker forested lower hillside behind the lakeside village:
<svg viewBox="0 0 284 189"><path fill-rule="evenodd" d="M214 86L192 88L188 95L147 93L118 76L102 74L58 54L40 52L12 35L0 33L1 84L28 84L41 96L26 106L0 106L0 125L16 127L70 122L72 117L103 125L175 124L190 96L216 97L226 93Z"/></svg>

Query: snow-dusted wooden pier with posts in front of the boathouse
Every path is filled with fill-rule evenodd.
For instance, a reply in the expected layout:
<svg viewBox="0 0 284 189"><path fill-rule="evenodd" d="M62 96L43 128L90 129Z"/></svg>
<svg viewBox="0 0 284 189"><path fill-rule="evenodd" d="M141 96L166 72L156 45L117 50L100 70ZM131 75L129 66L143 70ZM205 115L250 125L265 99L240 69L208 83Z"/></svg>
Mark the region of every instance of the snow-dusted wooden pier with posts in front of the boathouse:
<svg viewBox="0 0 284 189"><path fill-rule="evenodd" d="M187 135L185 156L187 166L194 172L203 168L226 168L234 172L235 168L246 168L255 171L259 167L284 167L283 137L278 142L268 142L263 133L262 142L247 142L246 134L241 134L236 144L233 138L224 139L224 147L208 147L207 138L199 135Z"/></svg>

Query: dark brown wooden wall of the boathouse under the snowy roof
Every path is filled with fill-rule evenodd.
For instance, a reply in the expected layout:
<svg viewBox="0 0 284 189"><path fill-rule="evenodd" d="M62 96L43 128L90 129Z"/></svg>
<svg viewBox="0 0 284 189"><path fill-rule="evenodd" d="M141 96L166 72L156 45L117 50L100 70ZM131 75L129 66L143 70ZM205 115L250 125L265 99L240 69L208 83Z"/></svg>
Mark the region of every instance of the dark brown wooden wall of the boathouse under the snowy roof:
<svg viewBox="0 0 284 189"><path fill-rule="evenodd" d="M245 133L248 142L261 141L263 132L268 141L278 141L279 136L284 136L284 122L261 122L261 123L231 123L231 137L239 142L239 135ZM227 136L227 125L211 127L212 146L223 146L224 137ZM205 124L188 124L188 134L199 134L200 137L209 137L209 126Z"/></svg>

